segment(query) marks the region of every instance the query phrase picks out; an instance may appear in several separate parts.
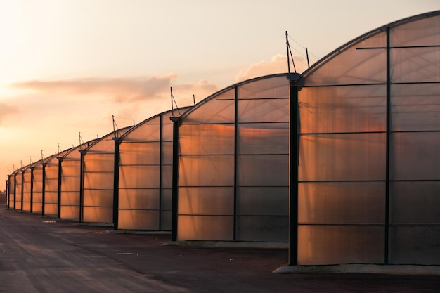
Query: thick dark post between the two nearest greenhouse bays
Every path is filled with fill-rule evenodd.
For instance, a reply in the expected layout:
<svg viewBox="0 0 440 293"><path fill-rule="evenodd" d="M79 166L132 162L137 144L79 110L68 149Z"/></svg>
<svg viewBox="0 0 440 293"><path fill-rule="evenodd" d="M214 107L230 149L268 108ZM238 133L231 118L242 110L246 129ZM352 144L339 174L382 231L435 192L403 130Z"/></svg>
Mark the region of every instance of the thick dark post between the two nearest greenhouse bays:
<svg viewBox="0 0 440 293"><path fill-rule="evenodd" d="M298 262L299 75L289 75L289 266Z"/></svg>

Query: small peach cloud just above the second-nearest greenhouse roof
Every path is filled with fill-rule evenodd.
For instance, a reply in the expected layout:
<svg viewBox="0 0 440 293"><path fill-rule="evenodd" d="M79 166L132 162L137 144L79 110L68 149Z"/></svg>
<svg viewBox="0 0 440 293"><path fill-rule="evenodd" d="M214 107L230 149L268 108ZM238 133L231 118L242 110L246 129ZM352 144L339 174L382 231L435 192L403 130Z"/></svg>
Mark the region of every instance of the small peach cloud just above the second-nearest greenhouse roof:
<svg viewBox="0 0 440 293"><path fill-rule="evenodd" d="M307 69L307 61L302 56L294 56L295 67L297 72L302 73ZM287 57L283 55L273 56L270 61L261 61L259 63L251 64L249 67L240 70L235 77L235 82L242 82L243 80L252 79L254 77L261 77L267 74L276 74L287 72ZM290 72L295 72L290 60Z"/></svg>

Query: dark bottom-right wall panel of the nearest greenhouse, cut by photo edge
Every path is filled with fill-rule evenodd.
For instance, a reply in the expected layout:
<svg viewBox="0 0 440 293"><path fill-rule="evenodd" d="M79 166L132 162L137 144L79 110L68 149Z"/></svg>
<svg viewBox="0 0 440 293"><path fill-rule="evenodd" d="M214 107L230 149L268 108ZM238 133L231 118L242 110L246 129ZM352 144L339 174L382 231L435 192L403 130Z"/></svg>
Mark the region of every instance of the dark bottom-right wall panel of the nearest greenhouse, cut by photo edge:
<svg viewBox="0 0 440 293"><path fill-rule="evenodd" d="M440 226L394 226L389 231L390 264L440 265Z"/></svg>

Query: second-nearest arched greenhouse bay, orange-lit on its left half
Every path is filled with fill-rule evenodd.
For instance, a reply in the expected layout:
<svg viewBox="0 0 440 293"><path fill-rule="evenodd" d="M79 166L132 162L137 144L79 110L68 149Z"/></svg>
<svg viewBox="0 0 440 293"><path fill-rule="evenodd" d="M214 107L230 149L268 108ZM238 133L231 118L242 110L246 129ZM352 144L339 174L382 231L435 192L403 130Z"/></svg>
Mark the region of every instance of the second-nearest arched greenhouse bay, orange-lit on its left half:
<svg viewBox="0 0 440 293"><path fill-rule="evenodd" d="M235 84L176 119L173 240L287 242L289 82Z"/></svg>

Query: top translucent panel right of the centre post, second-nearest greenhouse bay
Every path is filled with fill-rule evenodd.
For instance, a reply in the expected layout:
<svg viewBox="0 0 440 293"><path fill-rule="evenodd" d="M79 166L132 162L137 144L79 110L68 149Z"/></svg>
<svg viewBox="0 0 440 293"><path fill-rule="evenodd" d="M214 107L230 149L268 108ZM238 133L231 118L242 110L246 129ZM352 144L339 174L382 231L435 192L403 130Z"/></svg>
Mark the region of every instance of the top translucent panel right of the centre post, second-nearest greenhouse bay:
<svg viewBox="0 0 440 293"><path fill-rule="evenodd" d="M289 96L289 82L285 75L264 79L238 86L238 98L287 98Z"/></svg>

